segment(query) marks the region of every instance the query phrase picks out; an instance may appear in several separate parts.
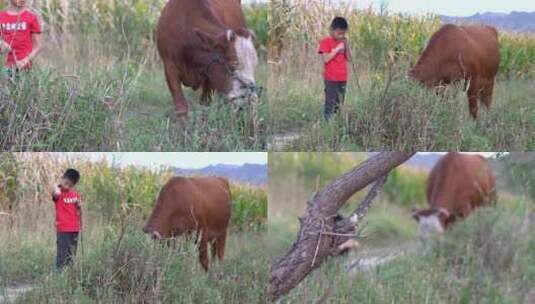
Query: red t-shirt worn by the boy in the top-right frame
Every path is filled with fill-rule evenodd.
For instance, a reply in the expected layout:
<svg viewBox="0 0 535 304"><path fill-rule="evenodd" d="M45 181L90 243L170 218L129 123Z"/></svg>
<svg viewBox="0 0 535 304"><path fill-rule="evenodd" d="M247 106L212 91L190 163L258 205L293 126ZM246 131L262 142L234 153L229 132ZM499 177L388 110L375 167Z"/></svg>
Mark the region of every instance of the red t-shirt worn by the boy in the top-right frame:
<svg viewBox="0 0 535 304"><path fill-rule="evenodd" d="M318 53L330 53L343 41L338 41L329 36L320 41ZM323 77L329 81L347 81L347 52L338 52L331 61L325 63Z"/></svg>

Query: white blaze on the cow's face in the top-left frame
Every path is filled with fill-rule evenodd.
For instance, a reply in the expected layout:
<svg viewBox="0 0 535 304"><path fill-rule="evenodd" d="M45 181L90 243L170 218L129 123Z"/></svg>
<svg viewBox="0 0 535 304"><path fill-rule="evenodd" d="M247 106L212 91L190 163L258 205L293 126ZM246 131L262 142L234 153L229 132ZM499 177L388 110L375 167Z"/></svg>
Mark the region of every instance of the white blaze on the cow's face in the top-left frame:
<svg viewBox="0 0 535 304"><path fill-rule="evenodd" d="M231 89L226 97L237 106L243 106L249 102L256 102L255 70L258 65L258 55L254 47L253 38L236 36L234 43L239 67L232 79Z"/></svg>

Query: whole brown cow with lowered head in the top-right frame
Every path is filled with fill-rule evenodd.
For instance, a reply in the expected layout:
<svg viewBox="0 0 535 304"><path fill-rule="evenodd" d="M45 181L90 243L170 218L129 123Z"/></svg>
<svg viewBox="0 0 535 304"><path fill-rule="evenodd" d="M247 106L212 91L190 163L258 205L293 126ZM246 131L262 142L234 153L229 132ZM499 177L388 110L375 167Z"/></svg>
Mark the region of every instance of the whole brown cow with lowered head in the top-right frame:
<svg viewBox="0 0 535 304"><path fill-rule="evenodd" d="M433 34L409 77L428 88L464 80L470 114L475 119L479 99L490 108L499 65L495 28L446 24Z"/></svg>

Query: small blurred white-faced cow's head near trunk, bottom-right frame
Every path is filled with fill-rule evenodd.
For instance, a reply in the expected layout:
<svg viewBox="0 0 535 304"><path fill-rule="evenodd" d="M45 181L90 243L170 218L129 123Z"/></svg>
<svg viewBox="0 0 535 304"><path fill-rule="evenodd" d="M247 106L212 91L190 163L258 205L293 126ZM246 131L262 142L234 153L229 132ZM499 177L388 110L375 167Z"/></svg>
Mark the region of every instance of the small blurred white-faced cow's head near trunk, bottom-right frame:
<svg viewBox="0 0 535 304"><path fill-rule="evenodd" d="M442 233L455 220L455 216L444 208L413 210L412 218L419 224L418 233L421 237Z"/></svg>

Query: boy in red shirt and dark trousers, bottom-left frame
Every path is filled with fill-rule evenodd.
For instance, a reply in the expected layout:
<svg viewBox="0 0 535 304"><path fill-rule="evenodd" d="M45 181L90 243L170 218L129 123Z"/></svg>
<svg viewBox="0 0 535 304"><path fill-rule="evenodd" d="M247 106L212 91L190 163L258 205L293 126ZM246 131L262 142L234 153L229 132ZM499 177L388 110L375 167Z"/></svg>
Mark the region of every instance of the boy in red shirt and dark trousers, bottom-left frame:
<svg viewBox="0 0 535 304"><path fill-rule="evenodd" d="M72 262L78 246L82 209L80 208L80 195L74 186L79 180L78 171L67 169L60 184L52 191L52 200L56 206L56 268L58 270Z"/></svg>

